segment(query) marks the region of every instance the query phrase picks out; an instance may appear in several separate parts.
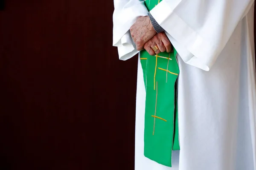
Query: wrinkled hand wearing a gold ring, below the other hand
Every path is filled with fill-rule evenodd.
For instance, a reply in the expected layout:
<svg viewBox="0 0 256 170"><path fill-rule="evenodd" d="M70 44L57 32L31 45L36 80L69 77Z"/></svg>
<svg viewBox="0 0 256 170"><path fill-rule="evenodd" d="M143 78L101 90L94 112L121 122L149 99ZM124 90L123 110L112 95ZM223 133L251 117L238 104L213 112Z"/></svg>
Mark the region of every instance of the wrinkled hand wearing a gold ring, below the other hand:
<svg viewBox="0 0 256 170"><path fill-rule="evenodd" d="M158 47L158 50L156 52L152 50L152 47L154 47L155 45L157 45ZM166 36L165 32L160 32L156 34L153 38L148 40L148 42L144 44L144 48L146 51L148 51L148 54L154 56L155 54L159 54L160 52L164 51L168 53L171 52L172 44L169 38Z"/></svg>

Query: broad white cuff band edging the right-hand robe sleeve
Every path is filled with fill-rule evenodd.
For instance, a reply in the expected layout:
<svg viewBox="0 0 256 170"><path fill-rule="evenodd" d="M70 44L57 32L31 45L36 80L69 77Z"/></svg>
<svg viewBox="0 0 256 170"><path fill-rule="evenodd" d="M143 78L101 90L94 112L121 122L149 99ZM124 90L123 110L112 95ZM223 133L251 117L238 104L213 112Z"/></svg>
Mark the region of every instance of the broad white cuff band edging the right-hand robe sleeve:
<svg viewBox="0 0 256 170"><path fill-rule="evenodd" d="M184 62L209 71L219 51L175 14L174 10L179 3L180 0L172 0L170 3L162 1L150 13L167 33L192 54L186 57L180 55Z"/></svg>

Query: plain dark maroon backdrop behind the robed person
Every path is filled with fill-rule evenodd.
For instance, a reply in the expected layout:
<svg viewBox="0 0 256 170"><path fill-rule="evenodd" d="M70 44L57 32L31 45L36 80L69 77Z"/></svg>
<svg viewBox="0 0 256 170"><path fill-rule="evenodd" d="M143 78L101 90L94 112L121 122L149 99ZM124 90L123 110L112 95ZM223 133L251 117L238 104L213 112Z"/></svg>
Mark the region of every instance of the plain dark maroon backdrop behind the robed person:
<svg viewBox="0 0 256 170"><path fill-rule="evenodd" d="M6 0L0 170L134 169L137 57L112 47L111 0Z"/></svg>

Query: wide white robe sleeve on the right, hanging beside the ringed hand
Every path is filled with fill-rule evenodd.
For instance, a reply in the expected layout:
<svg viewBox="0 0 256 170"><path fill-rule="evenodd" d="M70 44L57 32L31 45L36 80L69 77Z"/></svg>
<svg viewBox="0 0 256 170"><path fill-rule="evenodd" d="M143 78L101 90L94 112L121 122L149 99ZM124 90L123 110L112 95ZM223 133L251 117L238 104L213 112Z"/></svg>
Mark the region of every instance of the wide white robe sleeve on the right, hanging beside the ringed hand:
<svg viewBox="0 0 256 170"><path fill-rule="evenodd" d="M180 49L189 51L181 55L177 49L184 62L209 71L253 2L163 0L150 13Z"/></svg>

